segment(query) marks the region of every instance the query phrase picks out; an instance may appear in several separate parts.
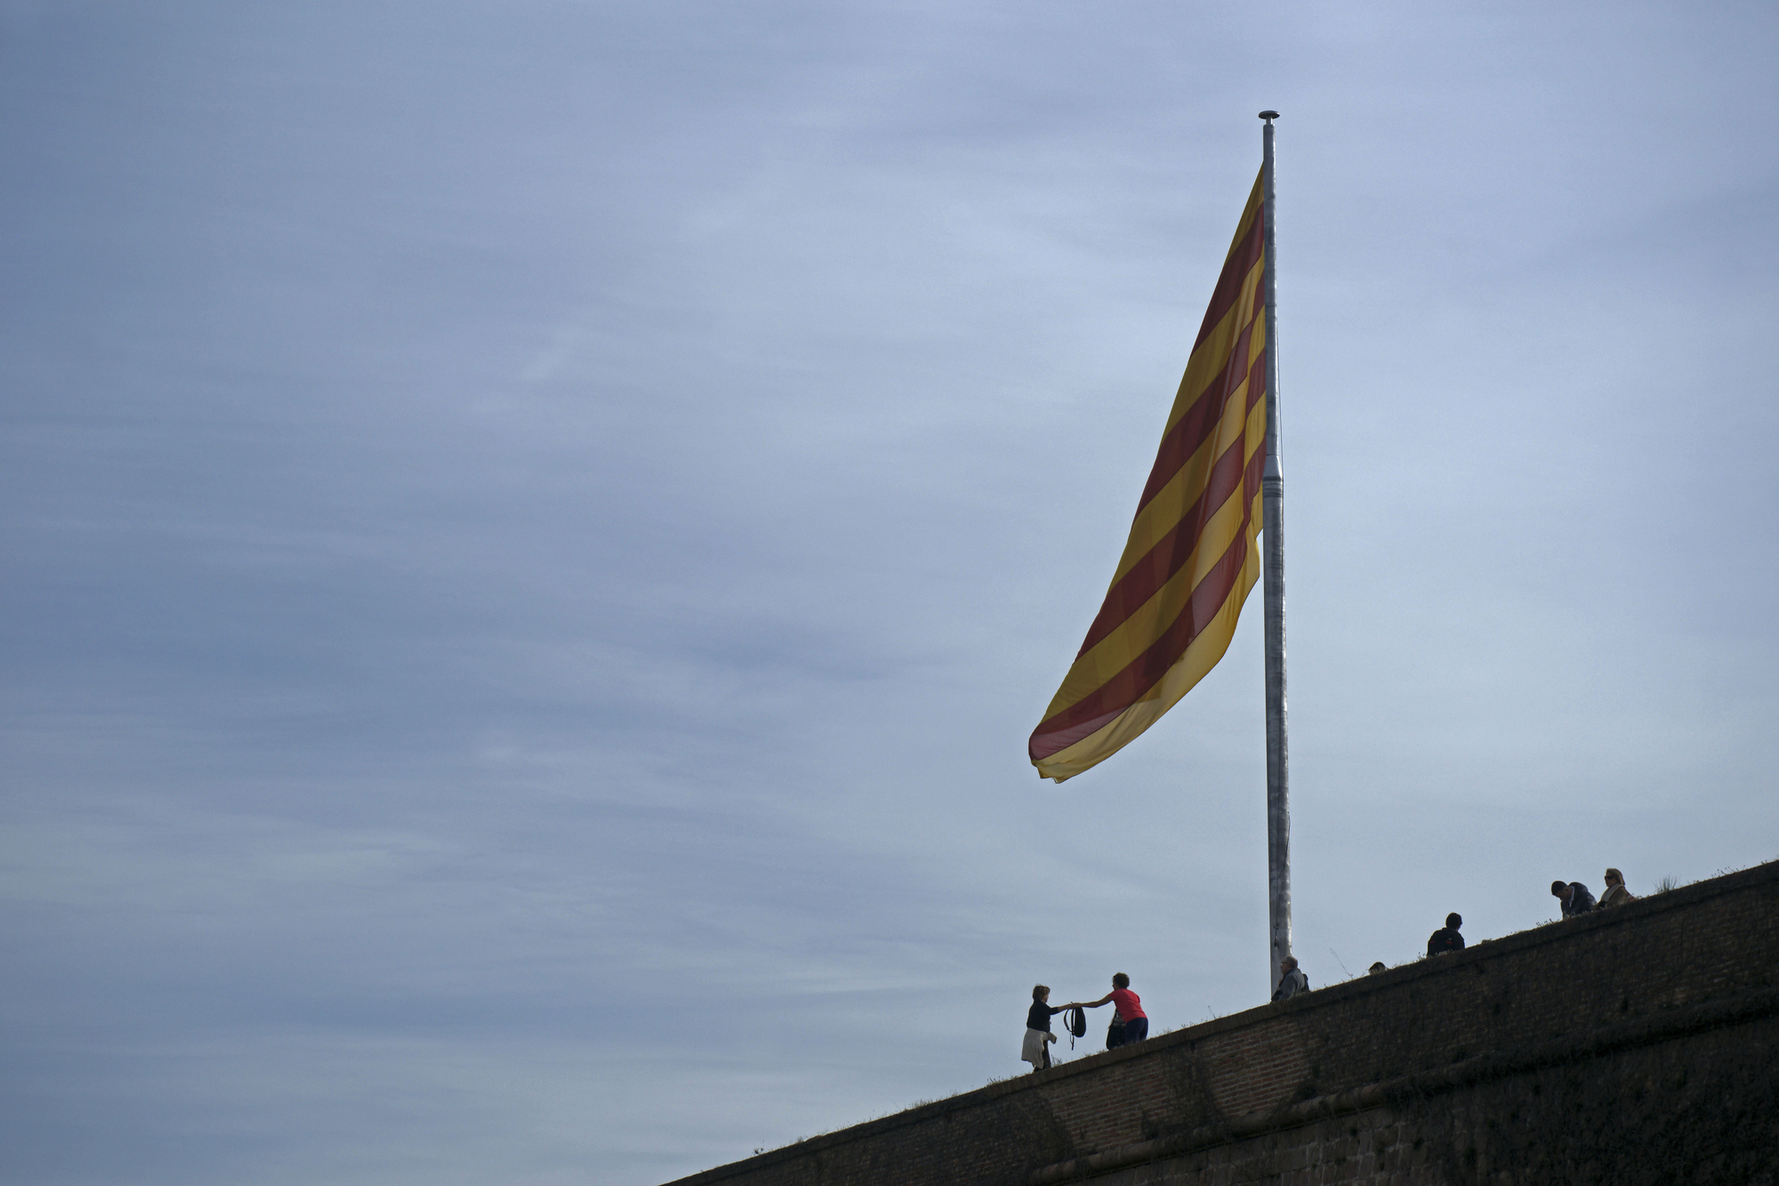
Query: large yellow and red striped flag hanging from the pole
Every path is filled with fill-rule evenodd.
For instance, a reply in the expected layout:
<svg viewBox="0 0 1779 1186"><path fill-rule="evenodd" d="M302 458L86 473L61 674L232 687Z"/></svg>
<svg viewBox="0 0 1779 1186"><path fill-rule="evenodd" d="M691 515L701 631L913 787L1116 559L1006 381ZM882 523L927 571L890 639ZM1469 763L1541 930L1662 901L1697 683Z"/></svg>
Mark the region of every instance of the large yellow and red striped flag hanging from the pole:
<svg viewBox="0 0 1779 1186"><path fill-rule="evenodd" d="M1174 707L1229 648L1260 577L1270 214L1261 180L1192 344L1105 605L1032 732L1032 764L1044 778L1103 762Z"/></svg>

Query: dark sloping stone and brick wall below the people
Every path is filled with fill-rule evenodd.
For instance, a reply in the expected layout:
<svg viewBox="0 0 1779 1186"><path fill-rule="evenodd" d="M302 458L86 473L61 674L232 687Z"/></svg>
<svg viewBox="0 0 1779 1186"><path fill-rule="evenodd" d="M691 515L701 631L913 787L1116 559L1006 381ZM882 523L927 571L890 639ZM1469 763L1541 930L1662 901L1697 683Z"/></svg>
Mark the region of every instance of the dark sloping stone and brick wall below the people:
<svg viewBox="0 0 1779 1186"><path fill-rule="evenodd" d="M1779 862L676 1186L1774 1182Z"/></svg>

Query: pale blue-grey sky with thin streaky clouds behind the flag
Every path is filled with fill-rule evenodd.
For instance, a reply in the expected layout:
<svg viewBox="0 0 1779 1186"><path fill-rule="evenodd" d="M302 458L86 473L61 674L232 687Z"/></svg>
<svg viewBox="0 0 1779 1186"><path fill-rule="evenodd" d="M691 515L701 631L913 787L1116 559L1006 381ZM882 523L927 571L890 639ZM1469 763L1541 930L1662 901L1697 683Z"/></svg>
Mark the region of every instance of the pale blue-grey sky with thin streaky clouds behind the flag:
<svg viewBox="0 0 1779 1186"><path fill-rule="evenodd" d="M1025 741L1267 107L1311 985L1779 857L1775 57L5 0L0 1177L648 1186L1023 1072L1037 981L1263 1003L1258 591Z"/></svg>

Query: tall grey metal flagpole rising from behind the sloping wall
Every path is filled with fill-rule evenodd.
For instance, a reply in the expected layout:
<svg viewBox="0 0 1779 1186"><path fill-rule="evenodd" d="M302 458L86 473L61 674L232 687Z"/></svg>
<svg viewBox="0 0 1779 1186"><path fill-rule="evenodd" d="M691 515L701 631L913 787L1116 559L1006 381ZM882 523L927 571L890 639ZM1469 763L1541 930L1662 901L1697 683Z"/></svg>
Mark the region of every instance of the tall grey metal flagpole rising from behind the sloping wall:
<svg viewBox="0 0 1779 1186"><path fill-rule="evenodd" d="M1290 746L1284 741L1284 470L1279 465L1279 251L1277 191L1272 178L1272 121L1263 110L1265 155L1261 201L1267 217L1267 468L1260 488L1265 532L1265 621L1267 621L1267 930L1272 971L1279 987L1279 963L1292 954L1292 808Z"/></svg>

